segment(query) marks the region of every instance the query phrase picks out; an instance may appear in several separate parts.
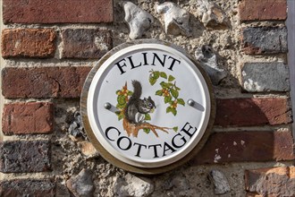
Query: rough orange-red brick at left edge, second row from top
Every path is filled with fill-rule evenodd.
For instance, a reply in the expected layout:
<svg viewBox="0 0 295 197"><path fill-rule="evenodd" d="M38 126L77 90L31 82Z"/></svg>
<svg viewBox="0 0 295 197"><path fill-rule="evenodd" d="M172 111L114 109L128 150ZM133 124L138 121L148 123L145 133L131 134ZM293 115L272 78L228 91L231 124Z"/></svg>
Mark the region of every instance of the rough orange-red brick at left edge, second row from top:
<svg viewBox="0 0 295 197"><path fill-rule="evenodd" d="M3 57L52 57L55 56L55 30L16 29L3 30Z"/></svg>

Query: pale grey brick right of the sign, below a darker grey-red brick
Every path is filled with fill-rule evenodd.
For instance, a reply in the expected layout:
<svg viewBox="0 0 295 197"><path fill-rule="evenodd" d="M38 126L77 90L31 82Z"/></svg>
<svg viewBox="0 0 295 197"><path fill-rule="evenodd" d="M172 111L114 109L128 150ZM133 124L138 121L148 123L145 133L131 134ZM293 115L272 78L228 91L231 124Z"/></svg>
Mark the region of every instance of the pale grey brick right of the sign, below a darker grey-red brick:
<svg viewBox="0 0 295 197"><path fill-rule="evenodd" d="M242 86L249 92L289 91L289 68L282 62L245 63Z"/></svg>

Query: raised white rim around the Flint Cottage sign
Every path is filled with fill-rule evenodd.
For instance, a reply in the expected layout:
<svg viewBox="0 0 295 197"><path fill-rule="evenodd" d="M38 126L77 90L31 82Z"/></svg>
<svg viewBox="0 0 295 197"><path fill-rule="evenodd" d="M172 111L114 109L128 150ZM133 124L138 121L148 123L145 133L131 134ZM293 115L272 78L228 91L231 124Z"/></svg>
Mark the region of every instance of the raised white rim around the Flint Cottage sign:
<svg viewBox="0 0 295 197"><path fill-rule="evenodd" d="M203 85L203 90L205 93L205 98L206 98L206 111L205 111L205 116L203 116L203 121L202 121L202 125L200 125L200 127L198 128L198 135L195 136L194 139L190 140L190 146L188 149L185 150L181 150L178 152L178 154L175 156L171 156L171 157L166 157L166 158L156 158L153 160L147 160L147 159L142 159L139 158L137 160L134 160L132 158L129 158L128 156L124 156L122 155L121 152L119 152L118 150L114 150L114 147L112 147L106 140L105 137L101 134L101 127L99 125L97 125L97 120L96 120L96 111L94 109L94 103L96 103L95 101L97 100L97 95L95 94L96 90L97 90L97 85L101 84L99 82L99 79L101 78L101 76L103 76L105 74L105 71L107 71L107 69L109 68L109 65L112 65L115 63L115 61L120 57L120 56L125 56L127 53L131 53L131 52L138 52L141 50L145 50L145 49L158 49L158 50L162 50L168 53L173 54L174 56L179 56L181 57L182 60L184 60L187 64L190 65L190 67L193 69L193 71L198 75L198 80L201 82L201 84ZM184 54L182 54L180 51L174 49L173 47L167 47L161 44L150 44L150 43L146 43L146 44L138 44L138 45L134 45L131 47L125 47L122 48L120 51L116 52L113 56L110 56L104 64L102 64L100 66L100 68L98 69L97 73L95 74L93 80L91 81L90 87L89 87L89 95L88 95L88 99L87 99L87 114L89 117L89 124L90 127L93 131L93 133L95 134L95 136L97 137L97 141L99 141L102 146L105 148L105 150L109 151L110 154L112 154L114 156L114 158L117 158L119 160L121 160L122 162L125 162L129 165L135 166L135 167L164 167L166 165L172 164L173 162L176 162L177 160L183 158L184 156L186 156L188 153L190 153L191 150L194 149L194 147L198 144L198 141L200 141L200 139L202 138L203 134L206 131L206 126L209 122L209 117L210 117L210 112L211 112L211 101L210 101L210 94L209 94L209 90L208 87L206 85L206 81L202 75L202 73L199 72L198 67L192 62L190 61L190 58L188 58L187 56L185 56ZM99 124L99 123L98 123Z"/></svg>

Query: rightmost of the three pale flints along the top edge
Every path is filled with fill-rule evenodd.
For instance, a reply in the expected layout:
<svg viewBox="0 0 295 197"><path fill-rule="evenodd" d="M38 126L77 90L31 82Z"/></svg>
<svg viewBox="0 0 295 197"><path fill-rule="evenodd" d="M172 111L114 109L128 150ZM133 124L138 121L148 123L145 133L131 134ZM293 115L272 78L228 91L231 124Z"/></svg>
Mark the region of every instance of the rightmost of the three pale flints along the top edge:
<svg viewBox="0 0 295 197"><path fill-rule="evenodd" d="M223 10L209 0L197 0L197 13L205 27L229 26L230 22Z"/></svg>

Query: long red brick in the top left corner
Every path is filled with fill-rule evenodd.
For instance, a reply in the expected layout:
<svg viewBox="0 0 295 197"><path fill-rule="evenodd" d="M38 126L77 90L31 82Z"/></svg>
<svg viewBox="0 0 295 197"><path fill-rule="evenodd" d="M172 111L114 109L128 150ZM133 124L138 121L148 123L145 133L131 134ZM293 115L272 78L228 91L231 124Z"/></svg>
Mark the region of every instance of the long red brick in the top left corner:
<svg viewBox="0 0 295 197"><path fill-rule="evenodd" d="M4 23L111 22L112 0L4 0Z"/></svg>

